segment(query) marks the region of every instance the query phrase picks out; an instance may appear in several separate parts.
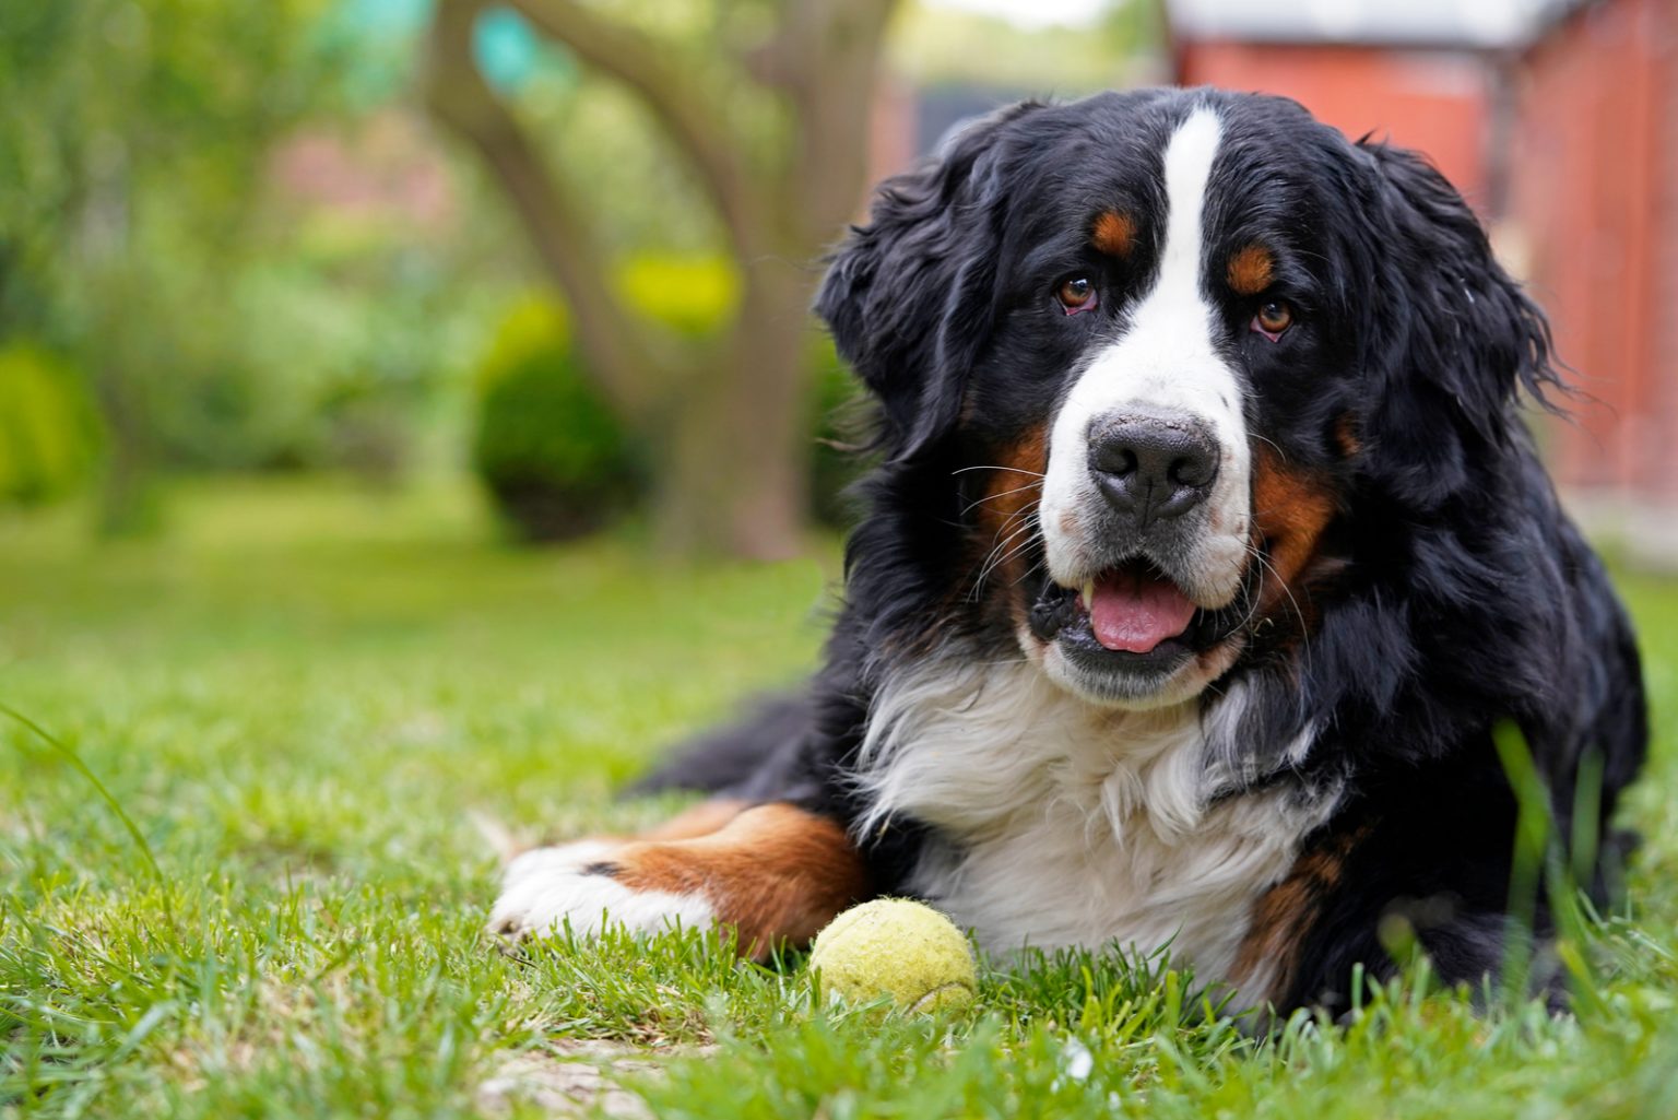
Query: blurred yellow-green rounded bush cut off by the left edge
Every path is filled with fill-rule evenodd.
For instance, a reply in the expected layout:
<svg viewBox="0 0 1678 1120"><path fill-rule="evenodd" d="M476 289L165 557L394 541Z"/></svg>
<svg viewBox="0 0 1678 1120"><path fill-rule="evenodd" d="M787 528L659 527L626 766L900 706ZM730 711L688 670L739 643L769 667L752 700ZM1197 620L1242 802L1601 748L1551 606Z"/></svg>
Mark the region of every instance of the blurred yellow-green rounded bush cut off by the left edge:
<svg viewBox="0 0 1678 1120"><path fill-rule="evenodd" d="M99 455L99 418L81 373L32 343L0 348L0 502L76 492Z"/></svg>

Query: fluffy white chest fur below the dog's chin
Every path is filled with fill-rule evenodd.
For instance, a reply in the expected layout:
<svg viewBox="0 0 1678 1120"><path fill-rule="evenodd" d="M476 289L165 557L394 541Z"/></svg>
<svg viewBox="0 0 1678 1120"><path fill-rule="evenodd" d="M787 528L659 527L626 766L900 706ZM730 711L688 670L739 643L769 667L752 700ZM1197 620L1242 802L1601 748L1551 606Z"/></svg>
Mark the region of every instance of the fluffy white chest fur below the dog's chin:
<svg viewBox="0 0 1678 1120"><path fill-rule="evenodd" d="M938 830L911 888L990 950L1151 952L1198 979L1232 977L1252 903L1294 863L1327 801L1267 789L1212 801L1206 737L1240 690L1201 717L1096 709L1032 665L928 665L874 707L857 781L859 833L906 814ZM1299 751L1309 747L1302 739Z"/></svg>

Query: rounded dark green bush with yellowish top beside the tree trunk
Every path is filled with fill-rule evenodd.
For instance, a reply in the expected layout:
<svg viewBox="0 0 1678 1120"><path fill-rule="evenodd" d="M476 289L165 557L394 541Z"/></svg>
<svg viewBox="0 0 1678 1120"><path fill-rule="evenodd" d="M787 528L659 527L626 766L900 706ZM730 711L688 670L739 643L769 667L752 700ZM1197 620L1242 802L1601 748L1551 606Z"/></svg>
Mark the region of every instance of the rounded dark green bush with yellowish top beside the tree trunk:
<svg viewBox="0 0 1678 1120"><path fill-rule="evenodd" d="M646 492L644 457L589 379L565 314L527 297L478 368L472 462L513 527L564 541Z"/></svg>

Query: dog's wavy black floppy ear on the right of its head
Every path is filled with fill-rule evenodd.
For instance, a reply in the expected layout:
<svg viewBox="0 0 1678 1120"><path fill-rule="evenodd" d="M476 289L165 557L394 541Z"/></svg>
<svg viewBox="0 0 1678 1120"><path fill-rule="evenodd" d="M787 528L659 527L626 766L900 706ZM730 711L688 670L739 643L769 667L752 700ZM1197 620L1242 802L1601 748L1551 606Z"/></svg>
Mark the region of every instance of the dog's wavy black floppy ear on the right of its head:
<svg viewBox="0 0 1678 1120"><path fill-rule="evenodd" d="M1462 195L1416 153L1359 148L1376 171L1361 358L1381 381L1363 428L1394 492L1431 509L1512 443L1519 390L1547 403L1561 379L1544 314Z"/></svg>

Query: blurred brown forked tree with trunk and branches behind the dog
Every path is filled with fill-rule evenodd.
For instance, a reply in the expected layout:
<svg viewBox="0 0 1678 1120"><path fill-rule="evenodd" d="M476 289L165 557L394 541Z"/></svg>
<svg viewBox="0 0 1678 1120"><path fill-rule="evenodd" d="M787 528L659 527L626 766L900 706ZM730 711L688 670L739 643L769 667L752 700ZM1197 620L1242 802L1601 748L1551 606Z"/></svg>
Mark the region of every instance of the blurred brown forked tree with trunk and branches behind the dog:
<svg viewBox="0 0 1678 1120"><path fill-rule="evenodd" d="M868 178L879 52L896 0L784 0L765 42L733 77L774 94L779 136L740 128L715 67L691 47L581 0L513 0L542 34L638 96L693 168L742 280L733 321L710 353L666 338L612 294L611 262L571 188L473 62L488 0L440 0L428 99L500 185L547 275L564 292L592 376L619 413L664 448L658 527L683 551L747 557L797 549L807 448L807 306L816 259ZM717 47L722 50L722 47Z"/></svg>

